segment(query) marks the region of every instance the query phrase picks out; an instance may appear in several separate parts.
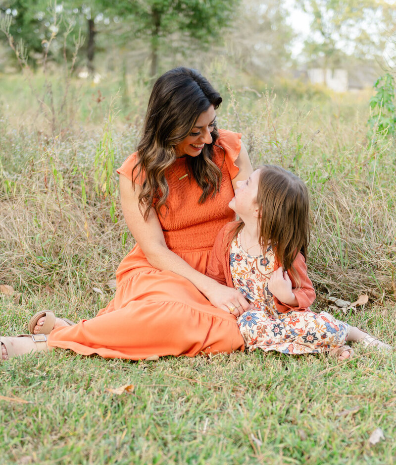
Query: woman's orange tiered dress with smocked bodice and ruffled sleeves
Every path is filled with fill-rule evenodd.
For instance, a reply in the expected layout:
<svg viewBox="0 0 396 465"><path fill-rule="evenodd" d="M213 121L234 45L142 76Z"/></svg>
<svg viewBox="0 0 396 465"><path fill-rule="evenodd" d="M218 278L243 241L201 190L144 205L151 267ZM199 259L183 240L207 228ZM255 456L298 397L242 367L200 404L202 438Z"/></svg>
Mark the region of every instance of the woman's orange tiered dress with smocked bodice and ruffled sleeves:
<svg viewBox="0 0 396 465"><path fill-rule="evenodd" d="M214 148L213 161L223 175L220 193L198 204L201 190L193 176L179 180L189 173L188 157L179 158L166 176L168 214L159 216L169 249L201 273L206 271L217 233L234 219L228 203L234 196L231 179L238 173L234 162L241 150L241 134L219 133L221 148ZM117 172L131 179L135 164L133 154ZM138 244L121 261L116 280L114 298L95 318L52 330L49 346L132 360L244 349L235 316L211 305L186 278L152 267Z"/></svg>

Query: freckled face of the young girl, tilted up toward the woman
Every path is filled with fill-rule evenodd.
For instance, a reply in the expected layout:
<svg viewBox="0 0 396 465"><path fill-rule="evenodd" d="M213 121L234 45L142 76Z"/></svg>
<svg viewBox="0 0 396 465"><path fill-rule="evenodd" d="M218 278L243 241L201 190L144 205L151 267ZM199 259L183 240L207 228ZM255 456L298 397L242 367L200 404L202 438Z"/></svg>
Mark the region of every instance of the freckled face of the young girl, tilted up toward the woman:
<svg viewBox="0 0 396 465"><path fill-rule="evenodd" d="M228 206L237 213L241 219L247 219L258 213L257 190L260 170L254 171L245 181L237 181L235 196Z"/></svg>

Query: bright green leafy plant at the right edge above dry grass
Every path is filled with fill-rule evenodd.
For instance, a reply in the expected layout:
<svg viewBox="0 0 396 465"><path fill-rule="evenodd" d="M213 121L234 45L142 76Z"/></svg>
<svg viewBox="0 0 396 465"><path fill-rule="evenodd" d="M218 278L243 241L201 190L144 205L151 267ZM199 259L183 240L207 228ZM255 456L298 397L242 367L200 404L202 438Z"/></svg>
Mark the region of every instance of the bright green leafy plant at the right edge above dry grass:
<svg viewBox="0 0 396 465"><path fill-rule="evenodd" d="M371 116L368 119L369 136L396 135L395 79L390 73L379 77L373 88L376 94L370 99Z"/></svg>

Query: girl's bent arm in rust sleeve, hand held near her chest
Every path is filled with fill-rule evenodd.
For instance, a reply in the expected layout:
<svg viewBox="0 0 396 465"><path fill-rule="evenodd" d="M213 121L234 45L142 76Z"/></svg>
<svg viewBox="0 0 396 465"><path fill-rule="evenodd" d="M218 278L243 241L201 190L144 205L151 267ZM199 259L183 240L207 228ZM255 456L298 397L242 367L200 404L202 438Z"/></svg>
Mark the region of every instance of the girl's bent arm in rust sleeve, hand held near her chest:
<svg viewBox="0 0 396 465"><path fill-rule="evenodd" d="M316 298L312 282L307 275L305 259L301 253L297 254L293 265L300 280L299 287L292 276L283 271L282 267L272 273L268 282L268 289L274 296L275 306L281 313L290 310L305 311Z"/></svg>

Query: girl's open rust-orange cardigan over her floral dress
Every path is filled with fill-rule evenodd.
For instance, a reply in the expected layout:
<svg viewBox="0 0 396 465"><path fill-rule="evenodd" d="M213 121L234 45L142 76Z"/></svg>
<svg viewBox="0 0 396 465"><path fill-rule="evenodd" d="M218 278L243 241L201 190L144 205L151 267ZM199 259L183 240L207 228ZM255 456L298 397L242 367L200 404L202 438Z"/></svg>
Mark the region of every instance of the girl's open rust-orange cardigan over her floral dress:
<svg viewBox="0 0 396 465"><path fill-rule="evenodd" d="M227 223L218 233L216 240L213 245L212 252L210 254L209 263L206 269L206 275L209 278L213 278L218 283L233 288L233 282L230 271L230 251L226 249L228 239L233 233L235 226L237 225L236 221ZM293 292L296 295L298 305L293 307L287 305L286 303L281 302L274 296L274 303L276 308L281 313L287 313L292 310L298 311L307 311L309 310L309 305L315 300L316 294L312 287L312 282L308 278L306 273L306 264L305 259L301 253L297 254L293 265L298 273L300 279L300 287L296 287L296 282L293 277L289 274L289 277L292 281ZM274 271L279 268L279 262L275 256Z"/></svg>

